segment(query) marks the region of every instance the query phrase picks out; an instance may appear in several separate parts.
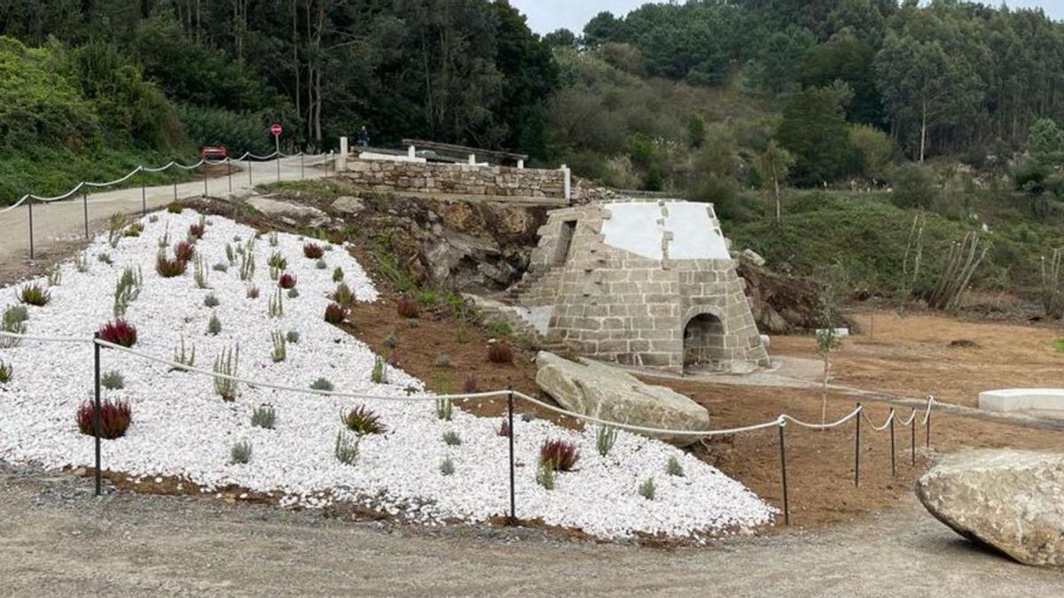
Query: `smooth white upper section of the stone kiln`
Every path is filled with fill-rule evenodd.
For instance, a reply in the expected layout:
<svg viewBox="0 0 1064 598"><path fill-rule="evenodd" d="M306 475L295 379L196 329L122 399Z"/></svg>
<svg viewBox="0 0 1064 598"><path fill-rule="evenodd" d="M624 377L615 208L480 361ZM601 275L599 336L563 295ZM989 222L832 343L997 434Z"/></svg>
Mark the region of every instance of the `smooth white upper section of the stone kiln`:
<svg viewBox="0 0 1064 598"><path fill-rule="evenodd" d="M608 203L610 217L602 221L604 243L643 258L665 256L665 233L671 260L728 260L728 246L713 206L689 201L633 201Z"/></svg>

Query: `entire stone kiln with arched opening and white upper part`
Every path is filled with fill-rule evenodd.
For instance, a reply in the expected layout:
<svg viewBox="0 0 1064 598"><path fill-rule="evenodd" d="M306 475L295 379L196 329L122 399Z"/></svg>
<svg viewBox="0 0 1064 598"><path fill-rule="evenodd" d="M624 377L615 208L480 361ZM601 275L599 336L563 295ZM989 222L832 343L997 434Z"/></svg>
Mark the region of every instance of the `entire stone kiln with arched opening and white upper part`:
<svg viewBox="0 0 1064 598"><path fill-rule="evenodd" d="M545 346L676 371L769 365L711 204L567 207L539 235L512 294Z"/></svg>

